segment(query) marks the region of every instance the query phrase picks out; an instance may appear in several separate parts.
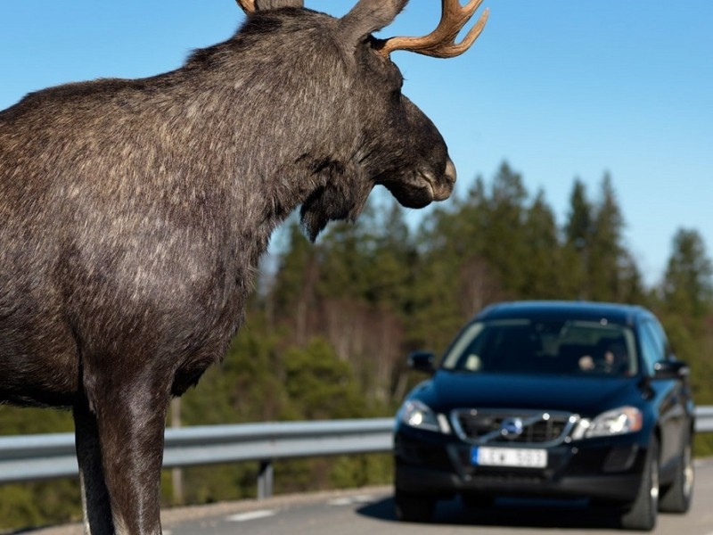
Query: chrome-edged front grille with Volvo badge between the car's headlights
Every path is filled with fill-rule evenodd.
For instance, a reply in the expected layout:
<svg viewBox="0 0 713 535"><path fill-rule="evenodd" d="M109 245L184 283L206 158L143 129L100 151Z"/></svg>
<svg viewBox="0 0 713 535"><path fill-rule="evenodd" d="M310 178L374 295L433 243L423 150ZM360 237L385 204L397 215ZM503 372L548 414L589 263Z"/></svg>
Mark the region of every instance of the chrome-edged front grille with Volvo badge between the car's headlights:
<svg viewBox="0 0 713 535"><path fill-rule="evenodd" d="M455 432L473 443L545 445L567 436L577 417L561 412L495 412L456 409L451 413Z"/></svg>

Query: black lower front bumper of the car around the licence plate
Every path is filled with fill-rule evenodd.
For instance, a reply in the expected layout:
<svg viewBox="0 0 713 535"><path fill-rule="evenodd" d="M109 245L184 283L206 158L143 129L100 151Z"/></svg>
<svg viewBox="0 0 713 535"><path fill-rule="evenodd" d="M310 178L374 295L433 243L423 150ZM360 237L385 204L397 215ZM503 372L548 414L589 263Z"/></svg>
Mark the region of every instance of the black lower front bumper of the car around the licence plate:
<svg viewBox="0 0 713 535"><path fill-rule="evenodd" d="M429 436L432 435L432 436ZM630 503L641 484L646 449L635 435L546 448L545 468L471 464L470 444L408 430L395 439L395 484L407 494L591 498Z"/></svg>

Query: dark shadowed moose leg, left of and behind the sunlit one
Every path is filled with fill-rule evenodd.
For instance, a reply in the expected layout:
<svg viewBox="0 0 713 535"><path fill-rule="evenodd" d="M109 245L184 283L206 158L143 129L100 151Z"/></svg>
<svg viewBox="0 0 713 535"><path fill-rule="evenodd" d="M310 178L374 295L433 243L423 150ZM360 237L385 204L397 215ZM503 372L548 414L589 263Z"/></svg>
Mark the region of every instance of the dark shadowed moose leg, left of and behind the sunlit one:
<svg viewBox="0 0 713 535"><path fill-rule="evenodd" d="M114 533L114 523L111 520L109 493L104 483L99 432L96 418L89 410L86 399L78 401L74 407L74 432L82 486L84 531L86 535L111 535Z"/></svg>

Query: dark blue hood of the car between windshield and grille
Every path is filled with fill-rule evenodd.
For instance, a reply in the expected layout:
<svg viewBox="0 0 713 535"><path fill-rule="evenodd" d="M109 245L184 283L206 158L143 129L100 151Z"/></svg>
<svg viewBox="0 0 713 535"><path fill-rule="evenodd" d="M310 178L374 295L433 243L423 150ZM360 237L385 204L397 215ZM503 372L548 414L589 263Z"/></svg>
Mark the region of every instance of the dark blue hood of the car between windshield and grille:
<svg viewBox="0 0 713 535"><path fill-rule="evenodd" d="M562 410L595 416L612 407L641 403L634 378L567 375L473 374L439 370L414 389L437 412L453 408Z"/></svg>

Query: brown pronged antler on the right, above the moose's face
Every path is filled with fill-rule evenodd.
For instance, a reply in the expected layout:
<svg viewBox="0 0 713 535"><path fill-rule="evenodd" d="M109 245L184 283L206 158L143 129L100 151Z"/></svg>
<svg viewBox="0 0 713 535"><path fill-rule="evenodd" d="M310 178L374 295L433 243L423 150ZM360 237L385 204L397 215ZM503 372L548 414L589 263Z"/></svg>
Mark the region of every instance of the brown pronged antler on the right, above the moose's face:
<svg viewBox="0 0 713 535"><path fill-rule="evenodd" d="M377 49L387 58L395 50L409 50L436 58L452 58L460 55L471 47L488 21L489 10L486 9L463 41L455 44L458 32L463 29L466 22L470 21L482 1L471 0L462 6L459 0L441 0L441 17L437 29L424 37L390 37L379 41Z"/></svg>

